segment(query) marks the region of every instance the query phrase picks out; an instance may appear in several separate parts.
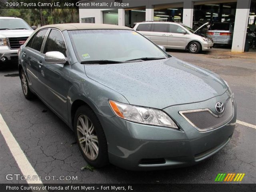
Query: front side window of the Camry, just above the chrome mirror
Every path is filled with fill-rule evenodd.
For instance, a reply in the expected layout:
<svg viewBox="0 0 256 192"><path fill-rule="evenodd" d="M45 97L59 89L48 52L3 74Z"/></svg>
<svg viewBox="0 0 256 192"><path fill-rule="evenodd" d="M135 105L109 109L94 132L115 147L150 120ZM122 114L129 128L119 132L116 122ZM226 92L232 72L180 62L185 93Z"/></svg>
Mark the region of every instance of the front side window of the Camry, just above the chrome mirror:
<svg viewBox="0 0 256 192"><path fill-rule="evenodd" d="M58 30L52 29L44 46L44 53L49 51L59 51L66 56L66 45L64 38Z"/></svg>

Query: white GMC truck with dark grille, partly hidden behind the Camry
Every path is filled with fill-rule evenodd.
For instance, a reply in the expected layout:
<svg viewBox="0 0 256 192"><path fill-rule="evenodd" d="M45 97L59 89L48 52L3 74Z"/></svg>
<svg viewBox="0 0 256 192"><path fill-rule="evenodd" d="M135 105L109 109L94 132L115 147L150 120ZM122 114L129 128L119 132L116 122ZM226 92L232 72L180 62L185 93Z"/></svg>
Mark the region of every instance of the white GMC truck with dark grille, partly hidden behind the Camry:
<svg viewBox="0 0 256 192"><path fill-rule="evenodd" d="M33 31L23 19L0 17L0 65L18 61L18 49Z"/></svg>

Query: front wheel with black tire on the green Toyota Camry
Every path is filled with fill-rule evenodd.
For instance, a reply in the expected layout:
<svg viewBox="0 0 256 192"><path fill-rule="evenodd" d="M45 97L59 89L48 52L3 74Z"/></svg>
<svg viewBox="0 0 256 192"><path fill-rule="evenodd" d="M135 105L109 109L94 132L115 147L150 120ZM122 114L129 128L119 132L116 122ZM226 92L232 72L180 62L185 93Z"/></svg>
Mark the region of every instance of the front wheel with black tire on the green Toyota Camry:
<svg viewBox="0 0 256 192"><path fill-rule="evenodd" d="M96 168L106 166L108 164L106 136L96 114L88 106L80 106L76 111L74 132L78 147L88 164Z"/></svg>

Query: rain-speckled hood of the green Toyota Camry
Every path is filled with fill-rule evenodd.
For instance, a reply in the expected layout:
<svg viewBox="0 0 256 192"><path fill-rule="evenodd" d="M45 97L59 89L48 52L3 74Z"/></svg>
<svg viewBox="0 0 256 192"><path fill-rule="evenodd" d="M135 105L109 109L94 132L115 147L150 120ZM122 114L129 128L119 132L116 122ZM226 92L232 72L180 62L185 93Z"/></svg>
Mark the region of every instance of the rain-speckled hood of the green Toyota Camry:
<svg viewBox="0 0 256 192"><path fill-rule="evenodd" d="M159 109L204 101L227 90L224 81L216 74L174 57L85 65L85 72L89 78L122 94L130 104Z"/></svg>

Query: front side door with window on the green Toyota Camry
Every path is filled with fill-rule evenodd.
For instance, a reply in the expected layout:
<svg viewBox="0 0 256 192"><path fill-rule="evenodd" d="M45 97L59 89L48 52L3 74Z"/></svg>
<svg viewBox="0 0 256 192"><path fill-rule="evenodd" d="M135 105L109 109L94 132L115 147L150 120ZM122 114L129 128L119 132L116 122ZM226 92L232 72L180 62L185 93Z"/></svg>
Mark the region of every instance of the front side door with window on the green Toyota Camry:
<svg viewBox="0 0 256 192"><path fill-rule="evenodd" d="M59 51L66 56L65 42L58 30L52 29L47 37L43 53L49 51ZM48 63L44 54L38 58L40 96L62 118L68 119L67 97L71 67L68 64Z"/></svg>

